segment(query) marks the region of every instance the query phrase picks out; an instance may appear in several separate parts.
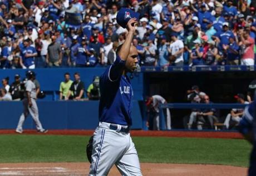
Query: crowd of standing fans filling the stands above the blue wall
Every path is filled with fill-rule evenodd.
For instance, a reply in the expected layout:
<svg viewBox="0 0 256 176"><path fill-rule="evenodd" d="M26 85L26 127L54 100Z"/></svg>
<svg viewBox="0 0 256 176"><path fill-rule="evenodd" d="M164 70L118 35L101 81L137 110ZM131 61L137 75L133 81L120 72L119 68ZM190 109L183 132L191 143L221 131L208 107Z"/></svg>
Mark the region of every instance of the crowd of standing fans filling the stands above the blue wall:
<svg viewBox="0 0 256 176"><path fill-rule="evenodd" d="M127 30L117 11L140 13L132 43L142 66L254 65L255 0L2 0L0 68L95 67L115 61Z"/></svg>

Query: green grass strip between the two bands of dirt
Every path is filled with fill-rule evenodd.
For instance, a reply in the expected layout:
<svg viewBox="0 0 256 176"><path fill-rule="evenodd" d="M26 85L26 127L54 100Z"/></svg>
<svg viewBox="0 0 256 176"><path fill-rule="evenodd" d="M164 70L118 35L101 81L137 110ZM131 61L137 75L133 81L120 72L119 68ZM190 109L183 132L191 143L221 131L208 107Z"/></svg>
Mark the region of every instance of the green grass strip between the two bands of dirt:
<svg viewBox="0 0 256 176"><path fill-rule="evenodd" d="M0 162L87 162L88 136L0 135ZM141 162L248 166L242 139L133 137Z"/></svg>

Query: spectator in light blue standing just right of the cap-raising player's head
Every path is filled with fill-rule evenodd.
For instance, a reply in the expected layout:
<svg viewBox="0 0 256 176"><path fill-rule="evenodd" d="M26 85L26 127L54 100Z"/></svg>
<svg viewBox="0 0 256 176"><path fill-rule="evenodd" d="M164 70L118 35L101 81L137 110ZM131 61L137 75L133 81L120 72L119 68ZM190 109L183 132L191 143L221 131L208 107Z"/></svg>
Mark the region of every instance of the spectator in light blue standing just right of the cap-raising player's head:
<svg viewBox="0 0 256 176"><path fill-rule="evenodd" d="M168 52L168 43L166 43L166 37L165 35L162 35L160 37L161 39L161 43L158 49L158 53L159 53L159 59L158 59L158 65L159 66L168 66L170 64L169 62L169 52ZM146 63L146 61L145 61Z"/></svg>

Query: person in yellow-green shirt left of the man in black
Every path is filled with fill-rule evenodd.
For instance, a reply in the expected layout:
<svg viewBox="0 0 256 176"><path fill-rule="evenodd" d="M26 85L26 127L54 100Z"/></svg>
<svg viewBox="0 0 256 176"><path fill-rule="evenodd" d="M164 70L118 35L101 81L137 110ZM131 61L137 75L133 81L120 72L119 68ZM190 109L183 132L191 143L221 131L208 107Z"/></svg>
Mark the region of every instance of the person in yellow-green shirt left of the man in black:
<svg viewBox="0 0 256 176"><path fill-rule="evenodd" d="M64 74L65 81L62 81L60 84L60 100L66 100L68 91L70 90L70 87L73 83L72 80L70 80L70 73ZM72 97L72 94L69 98Z"/></svg>

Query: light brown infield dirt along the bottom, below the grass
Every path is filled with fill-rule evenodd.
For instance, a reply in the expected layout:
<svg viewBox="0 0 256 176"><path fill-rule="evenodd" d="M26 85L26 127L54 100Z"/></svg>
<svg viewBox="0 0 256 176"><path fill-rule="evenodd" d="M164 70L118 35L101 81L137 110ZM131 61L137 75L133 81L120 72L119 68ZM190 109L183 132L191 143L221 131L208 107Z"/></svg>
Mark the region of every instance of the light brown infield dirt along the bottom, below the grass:
<svg viewBox="0 0 256 176"><path fill-rule="evenodd" d="M89 163L10 163L0 164L0 175L88 175ZM225 165L203 165L203 164L156 164L141 163L144 176L245 176L246 168ZM120 175L114 167L109 176Z"/></svg>

